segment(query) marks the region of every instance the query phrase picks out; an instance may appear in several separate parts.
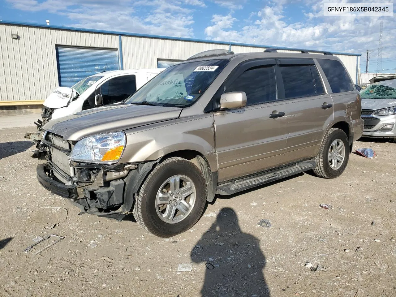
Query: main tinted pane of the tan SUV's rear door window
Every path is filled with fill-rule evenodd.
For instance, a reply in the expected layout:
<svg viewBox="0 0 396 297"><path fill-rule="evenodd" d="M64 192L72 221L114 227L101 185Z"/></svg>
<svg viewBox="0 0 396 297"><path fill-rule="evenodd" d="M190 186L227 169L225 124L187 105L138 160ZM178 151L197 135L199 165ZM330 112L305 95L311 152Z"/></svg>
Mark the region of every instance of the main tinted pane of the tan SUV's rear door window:
<svg viewBox="0 0 396 297"><path fill-rule="evenodd" d="M316 94L310 65L282 66L280 72L282 73L286 99L308 97Z"/></svg>

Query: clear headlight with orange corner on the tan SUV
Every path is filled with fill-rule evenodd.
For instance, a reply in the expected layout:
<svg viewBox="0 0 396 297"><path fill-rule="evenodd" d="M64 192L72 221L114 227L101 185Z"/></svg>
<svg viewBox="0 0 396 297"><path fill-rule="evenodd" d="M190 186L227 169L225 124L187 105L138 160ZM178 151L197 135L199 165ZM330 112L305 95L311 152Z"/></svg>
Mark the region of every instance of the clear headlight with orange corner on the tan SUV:
<svg viewBox="0 0 396 297"><path fill-rule="evenodd" d="M116 163L126 144L123 132L106 133L81 139L72 149L69 159L92 163Z"/></svg>

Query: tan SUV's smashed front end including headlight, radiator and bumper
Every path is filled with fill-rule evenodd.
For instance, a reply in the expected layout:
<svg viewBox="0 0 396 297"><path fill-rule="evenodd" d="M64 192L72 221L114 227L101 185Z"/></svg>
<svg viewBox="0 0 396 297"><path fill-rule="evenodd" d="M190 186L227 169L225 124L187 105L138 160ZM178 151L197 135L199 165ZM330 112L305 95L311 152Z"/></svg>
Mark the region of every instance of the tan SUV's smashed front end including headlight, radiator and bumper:
<svg viewBox="0 0 396 297"><path fill-rule="evenodd" d="M46 132L42 142L47 147L47 163L37 166L39 183L54 194L69 199L80 208L80 214L90 213L121 220L133 206L133 194L138 190L134 185L140 185L140 180L155 162L117 164L114 160L73 159L84 159L88 154L93 159L106 156L108 159L119 158L124 143L123 137L120 137L122 134L101 135L96 139L99 143L95 143L93 137L87 137L86 144L91 145L92 151L97 153L92 156L92 151L88 152L86 146L80 145L79 149L76 142L65 141L58 135ZM109 138L109 135L112 136ZM132 187L128 189L130 195L124 195L129 180L133 181L129 183L129 187Z"/></svg>

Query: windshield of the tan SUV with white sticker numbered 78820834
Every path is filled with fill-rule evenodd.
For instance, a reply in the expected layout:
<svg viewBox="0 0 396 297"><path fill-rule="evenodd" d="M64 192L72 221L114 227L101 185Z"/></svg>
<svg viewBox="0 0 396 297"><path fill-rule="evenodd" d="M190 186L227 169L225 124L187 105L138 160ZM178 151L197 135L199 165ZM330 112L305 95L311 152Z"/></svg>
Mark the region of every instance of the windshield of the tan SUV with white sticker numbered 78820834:
<svg viewBox="0 0 396 297"><path fill-rule="evenodd" d="M169 107L187 107L206 91L229 60L177 64L164 70L125 102Z"/></svg>

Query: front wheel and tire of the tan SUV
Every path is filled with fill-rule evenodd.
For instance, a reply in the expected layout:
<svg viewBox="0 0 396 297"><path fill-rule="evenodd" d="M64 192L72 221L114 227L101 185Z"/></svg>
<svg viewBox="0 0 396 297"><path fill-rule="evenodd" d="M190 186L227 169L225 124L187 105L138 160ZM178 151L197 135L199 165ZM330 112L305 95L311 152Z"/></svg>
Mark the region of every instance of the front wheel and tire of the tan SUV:
<svg viewBox="0 0 396 297"><path fill-rule="evenodd" d="M206 181L192 162L173 157L158 164L137 194L133 215L147 231L171 237L190 229L206 204Z"/></svg>

